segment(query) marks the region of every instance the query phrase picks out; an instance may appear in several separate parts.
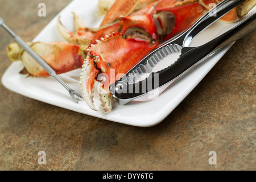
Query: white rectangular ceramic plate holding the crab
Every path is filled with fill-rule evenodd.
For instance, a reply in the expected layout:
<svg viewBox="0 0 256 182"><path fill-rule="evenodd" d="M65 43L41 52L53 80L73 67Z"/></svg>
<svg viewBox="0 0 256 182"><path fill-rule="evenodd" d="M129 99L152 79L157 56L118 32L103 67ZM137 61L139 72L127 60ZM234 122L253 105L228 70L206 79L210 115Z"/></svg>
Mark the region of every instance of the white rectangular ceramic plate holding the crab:
<svg viewBox="0 0 256 182"><path fill-rule="evenodd" d="M99 26L102 17L96 18L97 2L89 0L72 1L59 15L66 27L70 30L73 28L72 12L79 14L89 27ZM252 10L255 12L255 9ZM56 28L57 15L36 38L36 41L63 41ZM228 28L234 26L233 24L225 24L216 22L213 26L205 30L200 37L195 40L195 45L200 45L215 36L221 34ZM231 47L231 46L230 46ZM132 102L125 106L118 105L114 102L113 110L109 114L105 114L102 110L91 110L84 101L76 104L72 101L67 90L63 88L52 77L48 78L32 78L20 75L19 71L23 69L23 64L19 61L10 65L2 77L2 83L13 92L22 94L23 96L33 98L48 104L63 107L65 109L73 110L79 113L92 115L94 117L107 119L113 122L124 123L127 125L149 127L163 121L172 110L196 87L197 84L207 75L207 73L214 67L214 65L221 59L221 57L230 48L222 49L215 53L210 59L207 59L203 64L197 67L193 72L182 78L179 82L172 85L165 90L160 96L148 102ZM79 86L80 69L60 75L61 78L73 89L80 92ZM94 101L97 107L98 101L97 93L94 93Z"/></svg>

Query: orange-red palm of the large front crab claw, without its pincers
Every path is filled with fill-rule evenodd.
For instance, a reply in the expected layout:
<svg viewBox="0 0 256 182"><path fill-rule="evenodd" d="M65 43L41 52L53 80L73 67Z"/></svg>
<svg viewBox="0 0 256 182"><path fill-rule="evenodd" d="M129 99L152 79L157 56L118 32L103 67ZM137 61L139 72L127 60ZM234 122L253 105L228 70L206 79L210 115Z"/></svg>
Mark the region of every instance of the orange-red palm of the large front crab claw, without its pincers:
<svg viewBox="0 0 256 182"><path fill-rule="evenodd" d="M104 46L105 44L106 46ZM114 33L108 40L92 48L90 54L99 57L97 68L101 69L102 72L105 71L104 73L110 78L111 69L115 70L115 77L120 73L126 73L127 70L137 64L142 56L156 48L157 45L156 42L155 44L148 44L143 40L123 39L121 34Z"/></svg>

